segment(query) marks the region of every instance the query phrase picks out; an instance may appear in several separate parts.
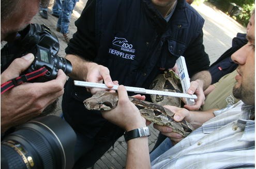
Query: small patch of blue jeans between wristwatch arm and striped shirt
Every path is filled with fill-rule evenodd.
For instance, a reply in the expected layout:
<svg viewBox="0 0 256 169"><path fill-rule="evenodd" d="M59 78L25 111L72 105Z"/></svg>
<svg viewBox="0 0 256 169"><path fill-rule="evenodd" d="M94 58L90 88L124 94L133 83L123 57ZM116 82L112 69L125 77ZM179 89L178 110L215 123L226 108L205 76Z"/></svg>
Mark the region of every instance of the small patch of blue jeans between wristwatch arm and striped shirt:
<svg viewBox="0 0 256 169"><path fill-rule="evenodd" d="M150 161L154 161L157 157L165 153L172 147L172 142L169 138L166 138L152 153L150 153Z"/></svg>

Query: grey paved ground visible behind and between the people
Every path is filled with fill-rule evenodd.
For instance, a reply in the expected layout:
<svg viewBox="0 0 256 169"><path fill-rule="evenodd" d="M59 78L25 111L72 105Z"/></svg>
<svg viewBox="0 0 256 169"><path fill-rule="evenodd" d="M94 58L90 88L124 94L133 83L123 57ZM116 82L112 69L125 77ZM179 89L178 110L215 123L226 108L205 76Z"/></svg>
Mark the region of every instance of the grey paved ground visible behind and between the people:
<svg viewBox="0 0 256 169"><path fill-rule="evenodd" d="M87 0L80 0L77 3L76 8L73 11L71 23L69 26L69 31L71 34L76 32L76 26L74 26L74 21L76 21L80 13L82 12ZM204 45L205 50L210 57L210 62L213 63L222 53L231 47L232 38L236 36L237 32L246 32L246 28L239 25L236 21L231 19L228 15L224 14L218 9L210 7L209 3L201 4L200 6L192 6L199 11L199 13L205 19L205 24L203 27L204 31ZM49 13L51 12L51 8ZM57 18L49 14L48 20L42 19L39 14L33 19L34 23L46 24L49 26L59 38L60 50L58 55L65 57L65 48L67 46L66 42L61 33L55 31ZM59 99L61 100L61 98ZM61 105L58 104L58 108L54 114L61 114ZM151 150L156 142L158 131L150 126L151 136L149 137L149 150ZM126 161L126 143L124 138L121 137L114 145L114 148L110 148L106 154L104 154L101 159L97 161L94 168L124 168Z"/></svg>

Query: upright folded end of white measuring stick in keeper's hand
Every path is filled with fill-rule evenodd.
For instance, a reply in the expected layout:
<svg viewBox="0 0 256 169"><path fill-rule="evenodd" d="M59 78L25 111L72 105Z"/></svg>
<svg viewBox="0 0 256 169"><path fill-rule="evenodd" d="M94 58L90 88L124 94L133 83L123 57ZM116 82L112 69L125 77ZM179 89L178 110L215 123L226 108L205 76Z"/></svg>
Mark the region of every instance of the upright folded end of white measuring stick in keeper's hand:
<svg viewBox="0 0 256 169"><path fill-rule="evenodd" d="M185 58L183 56L180 56L176 60L177 66L178 66L178 75L180 78L180 81L182 82L182 89L183 93L187 93L188 89L190 87L190 80L188 76L188 70L187 70L187 65L185 62ZM194 99L192 98L186 98L186 102L188 105L194 105Z"/></svg>

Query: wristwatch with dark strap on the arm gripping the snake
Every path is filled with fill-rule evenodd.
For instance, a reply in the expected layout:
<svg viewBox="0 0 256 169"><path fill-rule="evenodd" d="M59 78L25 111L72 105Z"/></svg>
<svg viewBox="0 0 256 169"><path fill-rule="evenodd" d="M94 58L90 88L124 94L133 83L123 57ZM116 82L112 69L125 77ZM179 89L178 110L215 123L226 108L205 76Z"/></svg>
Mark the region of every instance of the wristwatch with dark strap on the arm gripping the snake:
<svg viewBox="0 0 256 169"><path fill-rule="evenodd" d="M129 141L131 139L150 136L150 131L148 127L141 127L131 131L127 131L124 133L125 141Z"/></svg>

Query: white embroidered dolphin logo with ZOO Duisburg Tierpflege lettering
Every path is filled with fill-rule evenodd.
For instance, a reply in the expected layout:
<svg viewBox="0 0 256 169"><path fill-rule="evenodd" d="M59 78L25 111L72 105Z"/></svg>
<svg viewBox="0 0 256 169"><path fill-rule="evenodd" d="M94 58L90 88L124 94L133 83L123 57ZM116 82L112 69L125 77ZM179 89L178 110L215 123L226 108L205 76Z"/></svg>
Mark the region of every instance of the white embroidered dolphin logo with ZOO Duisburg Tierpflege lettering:
<svg viewBox="0 0 256 169"><path fill-rule="evenodd" d="M119 56L125 59L133 60L135 55L135 49L133 49L132 44L129 44L125 38L115 37L112 44L117 47L117 49L109 49L109 53L115 56ZM115 48L116 48L115 47ZM122 51L121 51L122 50Z"/></svg>

